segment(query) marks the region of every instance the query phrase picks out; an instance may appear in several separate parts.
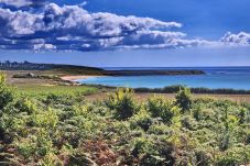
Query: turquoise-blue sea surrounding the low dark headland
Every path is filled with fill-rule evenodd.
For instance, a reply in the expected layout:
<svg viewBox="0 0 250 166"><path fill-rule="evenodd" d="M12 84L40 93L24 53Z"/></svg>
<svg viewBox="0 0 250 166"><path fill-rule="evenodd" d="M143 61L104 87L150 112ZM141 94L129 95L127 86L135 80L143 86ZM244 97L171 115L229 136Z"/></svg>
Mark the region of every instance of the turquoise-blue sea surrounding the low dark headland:
<svg viewBox="0 0 250 166"><path fill-rule="evenodd" d="M107 70L185 70L198 69L206 75L187 76L126 76L93 77L77 80L81 84L131 88L163 88L173 85L204 88L232 88L250 90L250 67L112 67Z"/></svg>

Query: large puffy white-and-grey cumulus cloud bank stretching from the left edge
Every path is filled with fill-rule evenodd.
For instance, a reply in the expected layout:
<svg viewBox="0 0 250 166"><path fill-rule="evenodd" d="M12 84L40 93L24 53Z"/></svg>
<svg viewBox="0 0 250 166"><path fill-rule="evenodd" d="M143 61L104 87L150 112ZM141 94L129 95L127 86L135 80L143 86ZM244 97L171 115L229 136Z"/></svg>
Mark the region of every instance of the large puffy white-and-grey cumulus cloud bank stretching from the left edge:
<svg viewBox="0 0 250 166"><path fill-rule="evenodd" d="M3 0L2 0L3 1ZM11 0L4 0L6 2ZM17 7L30 5L21 0ZM13 3L12 3L13 4ZM117 48L180 48L211 45L205 40L185 40L173 31L177 22L151 18L89 13L78 5L44 5L39 13L0 8L1 49L104 51ZM225 35L221 42L226 43ZM240 36L238 36L240 37Z"/></svg>

